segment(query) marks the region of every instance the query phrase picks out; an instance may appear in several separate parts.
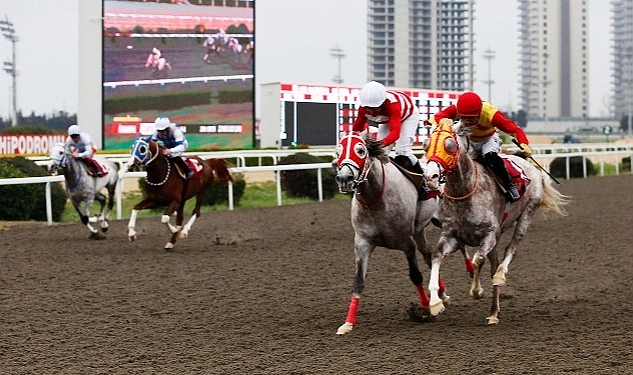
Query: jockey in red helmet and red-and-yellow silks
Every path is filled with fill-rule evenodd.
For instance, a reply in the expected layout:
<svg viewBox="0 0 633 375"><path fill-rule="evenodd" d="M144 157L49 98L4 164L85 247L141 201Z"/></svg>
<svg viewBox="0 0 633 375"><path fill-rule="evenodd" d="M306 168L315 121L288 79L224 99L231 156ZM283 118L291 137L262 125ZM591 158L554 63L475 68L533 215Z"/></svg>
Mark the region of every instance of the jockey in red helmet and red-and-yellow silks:
<svg viewBox="0 0 633 375"><path fill-rule="evenodd" d="M518 201L519 192L510 179L505 163L499 157L501 138L497 129L516 138L521 145L522 156L527 158L532 155L532 149L523 129L508 119L497 107L482 101L474 92L463 93L457 100L457 105L452 104L444 108L431 117L430 121L437 125L443 118L459 119L465 126L471 128L470 140L473 149L477 154L483 155L484 161L501 179L508 201Z"/></svg>

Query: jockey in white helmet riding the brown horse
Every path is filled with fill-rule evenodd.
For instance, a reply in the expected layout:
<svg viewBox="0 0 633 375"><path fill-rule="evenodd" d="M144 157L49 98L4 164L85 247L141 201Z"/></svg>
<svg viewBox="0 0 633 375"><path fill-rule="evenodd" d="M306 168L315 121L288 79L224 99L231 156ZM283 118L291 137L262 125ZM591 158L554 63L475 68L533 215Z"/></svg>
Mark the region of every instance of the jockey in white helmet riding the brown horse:
<svg viewBox="0 0 633 375"><path fill-rule="evenodd" d="M193 172L185 163L185 160L180 157L187 149L187 140L185 139L185 134L176 124L173 124L165 116L157 117L154 121L154 133L146 138L146 141L149 140L163 142L163 155L178 164L185 174L186 180L191 178Z"/></svg>

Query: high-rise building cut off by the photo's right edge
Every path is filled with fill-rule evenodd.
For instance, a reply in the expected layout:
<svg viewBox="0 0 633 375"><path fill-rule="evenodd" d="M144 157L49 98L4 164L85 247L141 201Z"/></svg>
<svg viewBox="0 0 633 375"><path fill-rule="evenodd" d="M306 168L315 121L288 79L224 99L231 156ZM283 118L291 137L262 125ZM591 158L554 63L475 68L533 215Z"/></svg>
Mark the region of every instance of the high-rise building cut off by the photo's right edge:
<svg viewBox="0 0 633 375"><path fill-rule="evenodd" d="M620 119L633 114L633 0L616 0L611 4L614 42L613 109L616 118Z"/></svg>

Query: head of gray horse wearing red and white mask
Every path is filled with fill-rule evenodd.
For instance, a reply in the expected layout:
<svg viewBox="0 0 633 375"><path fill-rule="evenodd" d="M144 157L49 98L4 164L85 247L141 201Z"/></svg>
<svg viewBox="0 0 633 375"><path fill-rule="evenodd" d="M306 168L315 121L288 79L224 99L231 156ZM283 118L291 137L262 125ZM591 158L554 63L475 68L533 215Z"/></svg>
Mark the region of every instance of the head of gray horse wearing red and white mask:
<svg viewBox="0 0 633 375"><path fill-rule="evenodd" d="M384 156L382 143L372 140L369 132L349 132L341 137L336 146L332 166L336 170L336 183L341 193L350 193L363 181L369 171L367 160L373 156Z"/></svg>

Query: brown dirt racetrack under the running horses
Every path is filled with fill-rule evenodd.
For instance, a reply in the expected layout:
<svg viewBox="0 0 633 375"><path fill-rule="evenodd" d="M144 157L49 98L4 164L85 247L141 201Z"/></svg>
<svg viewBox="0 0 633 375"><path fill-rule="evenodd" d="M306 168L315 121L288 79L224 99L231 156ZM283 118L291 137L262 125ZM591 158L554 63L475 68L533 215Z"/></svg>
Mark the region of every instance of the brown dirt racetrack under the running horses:
<svg viewBox="0 0 633 375"><path fill-rule="evenodd" d="M410 321L404 256L377 249L345 336L347 201L206 214L171 253L158 218L136 242L125 221L102 241L80 224L13 226L0 231L0 373L630 374L632 187L563 181L570 215L535 216L497 326L487 279L472 300L459 254L442 268L452 304Z"/></svg>

